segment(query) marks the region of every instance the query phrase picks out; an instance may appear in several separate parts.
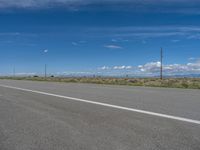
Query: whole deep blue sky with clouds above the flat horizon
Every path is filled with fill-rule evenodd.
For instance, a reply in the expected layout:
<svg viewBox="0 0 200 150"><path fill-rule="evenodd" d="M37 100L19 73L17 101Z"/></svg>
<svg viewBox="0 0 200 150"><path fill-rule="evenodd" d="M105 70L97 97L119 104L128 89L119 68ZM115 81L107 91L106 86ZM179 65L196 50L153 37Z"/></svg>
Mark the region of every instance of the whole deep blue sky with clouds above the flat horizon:
<svg viewBox="0 0 200 150"><path fill-rule="evenodd" d="M198 0L0 0L0 75L200 74Z"/></svg>

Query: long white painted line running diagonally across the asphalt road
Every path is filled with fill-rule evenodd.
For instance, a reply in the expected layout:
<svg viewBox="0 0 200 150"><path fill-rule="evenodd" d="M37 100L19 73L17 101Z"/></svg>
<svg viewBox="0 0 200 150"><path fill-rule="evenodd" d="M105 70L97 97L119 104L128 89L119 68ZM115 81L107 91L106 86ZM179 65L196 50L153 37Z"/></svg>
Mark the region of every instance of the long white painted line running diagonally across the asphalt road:
<svg viewBox="0 0 200 150"><path fill-rule="evenodd" d="M178 120L178 121L183 121L183 122L188 122L188 123L193 123L193 124L200 125L200 120L193 120L193 119L177 117L177 116L161 114L161 113L155 113L155 112L150 112L150 111L145 111L145 110L140 110L140 109L128 108L128 107L112 105L112 104L107 104L107 103L101 103L101 102L95 102L95 101L90 101L90 100L84 100L84 99L80 99L80 98L62 96L62 95L57 95L57 94L52 94L52 93L47 93L47 92L30 90L30 89L23 89L23 88L19 88L19 87L8 86L8 85L0 84L0 86L4 87L4 88L10 88L10 89L16 89L16 90L20 90L20 91L32 92L32 93L48 95L48 96L53 96L53 97L58 97L58 98L70 99L70 100L74 100L74 101L85 102L85 103L90 103L90 104L95 104L95 105L101 105L101 106L106 106L106 107L111 107L111 108L116 108L116 109L121 109L121 110L127 110L127 111L137 112L137 113L141 113L141 114L157 116L157 117L162 117L162 118Z"/></svg>

